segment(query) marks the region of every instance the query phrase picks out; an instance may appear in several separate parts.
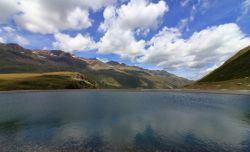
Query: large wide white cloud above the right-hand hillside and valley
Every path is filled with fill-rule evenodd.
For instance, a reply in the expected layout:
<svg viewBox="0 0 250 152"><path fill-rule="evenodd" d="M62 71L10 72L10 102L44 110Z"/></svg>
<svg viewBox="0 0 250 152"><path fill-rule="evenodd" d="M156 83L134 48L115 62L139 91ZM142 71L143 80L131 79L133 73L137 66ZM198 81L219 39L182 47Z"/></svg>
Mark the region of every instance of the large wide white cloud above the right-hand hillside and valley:
<svg viewBox="0 0 250 152"><path fill-rule="evenodd" d="M149 63L170 71L207 71L208 65L220 65L241 48L250 44L234 23L208 27L183 39L175 28L163 28L150 42L139 62ZM186 71L186 72L188 72Z"/></svg>

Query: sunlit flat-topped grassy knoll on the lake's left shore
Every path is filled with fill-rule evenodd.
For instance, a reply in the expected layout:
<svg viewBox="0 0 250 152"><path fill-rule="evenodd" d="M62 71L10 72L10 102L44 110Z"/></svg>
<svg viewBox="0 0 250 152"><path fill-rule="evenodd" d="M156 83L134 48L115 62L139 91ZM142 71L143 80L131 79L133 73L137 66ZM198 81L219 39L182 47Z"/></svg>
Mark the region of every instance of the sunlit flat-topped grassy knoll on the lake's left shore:
<svg viewBox="0 0 250 152"><path fill-rule="evenodd" d="M76 72L0 74L0 90L48 90L95 88Z"/></svg>

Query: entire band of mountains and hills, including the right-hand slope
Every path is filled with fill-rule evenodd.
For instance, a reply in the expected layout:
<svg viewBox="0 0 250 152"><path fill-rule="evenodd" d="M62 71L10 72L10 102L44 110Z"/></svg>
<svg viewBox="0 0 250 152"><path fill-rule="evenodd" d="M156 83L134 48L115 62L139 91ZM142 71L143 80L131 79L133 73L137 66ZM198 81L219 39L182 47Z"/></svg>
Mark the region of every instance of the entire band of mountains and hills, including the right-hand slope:
<svg viewBox="0 0 250 152"><path fill-rule="evenodd" d="M247 89L250 46L194 82L164 70L81 58L62 50L30 50L0 43L0 90L31 89Z"/></svg>

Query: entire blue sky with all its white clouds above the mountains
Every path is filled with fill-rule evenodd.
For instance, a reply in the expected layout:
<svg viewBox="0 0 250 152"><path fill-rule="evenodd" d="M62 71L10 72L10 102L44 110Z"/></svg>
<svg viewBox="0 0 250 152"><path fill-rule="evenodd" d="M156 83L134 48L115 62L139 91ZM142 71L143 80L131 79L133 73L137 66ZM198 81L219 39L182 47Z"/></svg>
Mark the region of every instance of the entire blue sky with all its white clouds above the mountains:
<svg viewBox="0 0 250 152"><path fill-rule="evenodd" d="M0 0L0 41L199 79L250 45L250 0Z"/></svg>

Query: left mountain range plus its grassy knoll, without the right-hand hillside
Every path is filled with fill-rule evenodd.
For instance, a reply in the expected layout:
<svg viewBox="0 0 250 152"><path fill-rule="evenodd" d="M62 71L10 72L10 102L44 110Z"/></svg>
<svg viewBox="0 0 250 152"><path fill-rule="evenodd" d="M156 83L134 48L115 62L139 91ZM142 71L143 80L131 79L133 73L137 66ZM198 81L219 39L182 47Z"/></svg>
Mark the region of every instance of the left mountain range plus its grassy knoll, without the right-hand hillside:
<svg viewBox="0 0 250 152"><path fill-rule="evenodd" d="M115 61L105 63L62 50L30 50L13 43L0 43L0 59L0 90L173 89L193 83L164 70L147 70Z"/></svg>

